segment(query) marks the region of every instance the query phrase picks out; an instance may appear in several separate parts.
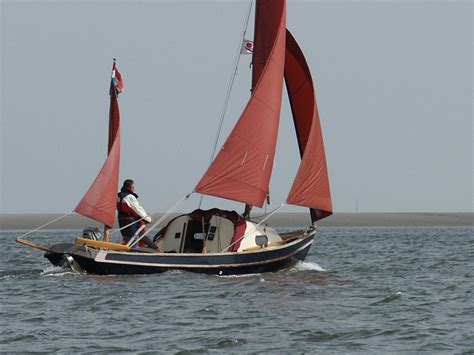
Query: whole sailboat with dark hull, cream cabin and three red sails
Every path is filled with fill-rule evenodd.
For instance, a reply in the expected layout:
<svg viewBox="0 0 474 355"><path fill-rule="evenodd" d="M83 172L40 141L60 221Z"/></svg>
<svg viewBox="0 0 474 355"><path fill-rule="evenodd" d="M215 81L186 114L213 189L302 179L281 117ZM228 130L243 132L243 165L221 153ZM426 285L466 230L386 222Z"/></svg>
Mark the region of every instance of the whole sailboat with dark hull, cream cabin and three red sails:
<svg viewBox="0 0 474 355"><path fill-rule="evenodd" d="M248 46L248 41L243 42ZM247 211L264 205L285 81L300 152L297 159L301 158L286 204L309 208L312 225L279 234L262 221L253 222L235 211L197 209L171 219L153 236L158 250L139 246L146 233L137 233L127 245L110 242L120 161L117 95L121 77L114 61L108 157L74 210L103 223L103 237L100 231L86 229L72 243L43 247L51 263L94 274L178 269L236 275L277 271L305 259L314 241L315 222L332 214L332 201L315 89L303 52L286 29L285 0L256 1L252 49L251 97L192 193L241 202Z"/></svg>

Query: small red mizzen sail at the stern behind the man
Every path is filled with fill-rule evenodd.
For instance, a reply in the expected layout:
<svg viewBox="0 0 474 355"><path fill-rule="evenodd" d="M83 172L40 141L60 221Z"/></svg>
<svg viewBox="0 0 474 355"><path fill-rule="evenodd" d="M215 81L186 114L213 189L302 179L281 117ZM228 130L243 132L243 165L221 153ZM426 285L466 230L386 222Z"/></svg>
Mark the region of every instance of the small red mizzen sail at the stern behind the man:
<svg viewBox="0 0 474 355"><path fill-rule="evenodd" d="M112 68L113 74L115 74L115 71L118 72L114 63ZM113 75L110 86L107 160L102 166L99 175L97 175L82 200L74 209L74 212L102 222L108 227L112 227L115 220L120 165L120 111L116 89L118 84L120 85L121 83L116 82L116 80L114 82Z"/></svg>

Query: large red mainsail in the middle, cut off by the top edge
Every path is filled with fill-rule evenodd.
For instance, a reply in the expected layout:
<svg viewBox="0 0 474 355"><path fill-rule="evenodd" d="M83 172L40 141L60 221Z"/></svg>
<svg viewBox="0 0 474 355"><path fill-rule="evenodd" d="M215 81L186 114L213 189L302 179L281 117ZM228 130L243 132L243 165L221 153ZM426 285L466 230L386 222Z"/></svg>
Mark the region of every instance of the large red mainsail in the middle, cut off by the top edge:
<svg viewBox="0 0 474 355"><path fill-rule="evenodd" d="M265 11L259 10L260 4L265 5ZM250 101L195 191L261 207L269 190L280 121L285 1L259 0L257 13L261 21L257 18L256 32L263 31L261 37L271 43L271 50ZM255 51L258 46L256 38Z"/></svg>

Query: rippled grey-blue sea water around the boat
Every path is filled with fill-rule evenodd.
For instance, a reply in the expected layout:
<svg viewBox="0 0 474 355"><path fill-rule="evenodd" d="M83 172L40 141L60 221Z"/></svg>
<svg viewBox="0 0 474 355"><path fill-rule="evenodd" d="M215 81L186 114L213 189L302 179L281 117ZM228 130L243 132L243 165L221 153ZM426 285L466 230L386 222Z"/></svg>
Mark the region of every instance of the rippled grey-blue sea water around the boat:
<svg viewBox="0 0 474 355"><path fill-rule="evenodd" d="M306 262L243 277L75 274L20 234L0 232L0 351L474 353L473 228L324 228Z"/></svg>

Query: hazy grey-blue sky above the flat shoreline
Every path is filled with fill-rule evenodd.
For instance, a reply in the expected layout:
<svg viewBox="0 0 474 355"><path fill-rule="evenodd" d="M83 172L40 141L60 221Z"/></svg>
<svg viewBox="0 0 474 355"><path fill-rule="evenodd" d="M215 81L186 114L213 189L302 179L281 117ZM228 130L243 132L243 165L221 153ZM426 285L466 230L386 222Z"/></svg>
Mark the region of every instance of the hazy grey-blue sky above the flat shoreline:
<svg viewBox="0 0 474 355"><path fill-rule="evenodd" d="M135 180L150 213L191 192L248 7L0 1L0 213L74 209L106 156L112 58L125 81L120 180ZM336 213L473 211L472 19L471 1L287 1L317 90ZM249 99L249 64L240 58L218 147ZM286 200L298 164L284 93L268 211ZM198 203L193 195L178 211ZM202 207L243 210L212 197Z"/></svg>

